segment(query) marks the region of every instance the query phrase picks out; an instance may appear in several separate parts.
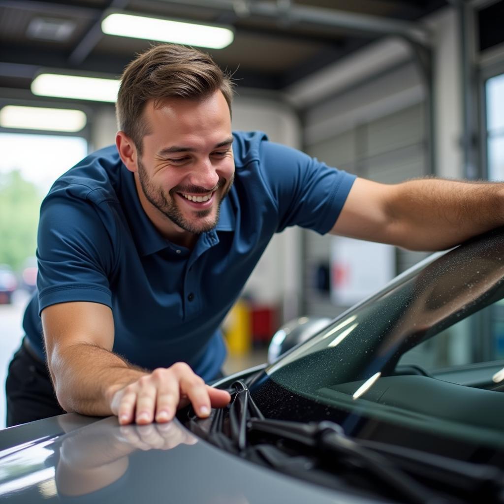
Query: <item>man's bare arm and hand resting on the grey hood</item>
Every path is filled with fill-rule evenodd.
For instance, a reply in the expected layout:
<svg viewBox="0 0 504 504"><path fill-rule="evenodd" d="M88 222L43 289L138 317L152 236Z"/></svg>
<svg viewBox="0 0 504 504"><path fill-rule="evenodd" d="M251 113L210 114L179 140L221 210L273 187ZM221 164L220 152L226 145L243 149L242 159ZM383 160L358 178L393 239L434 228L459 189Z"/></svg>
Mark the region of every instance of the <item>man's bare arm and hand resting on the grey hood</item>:
<svg viewBox="0 0 504 504"><path fill-rule="evenodd" d="M169 422L192 403L200 417L231 400L205 385L183 362L151 373L112 352L112 310L100 303L52 304L41 313L47 364L59 404L68 412L119 418L120 424ZM69 322L71 321L71 322Z"/></svg>

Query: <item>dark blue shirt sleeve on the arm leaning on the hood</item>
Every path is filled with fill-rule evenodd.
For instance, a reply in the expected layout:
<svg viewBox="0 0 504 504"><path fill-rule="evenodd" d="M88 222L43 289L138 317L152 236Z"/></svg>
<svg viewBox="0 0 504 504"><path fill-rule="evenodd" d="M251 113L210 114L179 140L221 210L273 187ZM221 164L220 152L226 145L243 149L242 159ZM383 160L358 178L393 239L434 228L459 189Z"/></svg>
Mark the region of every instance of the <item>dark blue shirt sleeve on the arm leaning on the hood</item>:
<svg viewBox="0 0 504 504"><path fill-rule="evenodd" d="M112 241L93 203L48 197L38 228L39 314L51 304L68 301L111 307Z"/></svg>

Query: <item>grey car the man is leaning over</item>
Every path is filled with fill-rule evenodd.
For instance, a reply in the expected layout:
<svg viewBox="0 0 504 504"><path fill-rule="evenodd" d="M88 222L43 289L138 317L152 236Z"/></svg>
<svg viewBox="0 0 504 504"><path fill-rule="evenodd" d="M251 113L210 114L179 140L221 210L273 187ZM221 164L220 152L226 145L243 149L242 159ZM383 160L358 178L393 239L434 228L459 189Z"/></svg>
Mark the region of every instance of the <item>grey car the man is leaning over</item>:
<svg viewBox="0 0 504 504"><path fill-rule="evenodd" d="M0 499L504 502L504 360L473 351L483 310L498 334L503 298L499 229L219 381L232 400L207 419L188 407L169 424L70 414L1 431Z"/></svg>

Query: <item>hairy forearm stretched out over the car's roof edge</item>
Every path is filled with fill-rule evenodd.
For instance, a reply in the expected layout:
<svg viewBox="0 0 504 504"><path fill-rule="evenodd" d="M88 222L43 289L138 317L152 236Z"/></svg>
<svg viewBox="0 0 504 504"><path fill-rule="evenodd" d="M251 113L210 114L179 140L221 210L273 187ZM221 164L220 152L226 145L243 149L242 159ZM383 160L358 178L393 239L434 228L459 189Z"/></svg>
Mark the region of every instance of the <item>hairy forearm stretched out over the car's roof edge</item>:
<svg viewBox="0 0 504 504"><path fill-rule="evenodd" d="M504 183L417 179L395 186L387 205L393 242L440 250L504 225Z"/></svg>

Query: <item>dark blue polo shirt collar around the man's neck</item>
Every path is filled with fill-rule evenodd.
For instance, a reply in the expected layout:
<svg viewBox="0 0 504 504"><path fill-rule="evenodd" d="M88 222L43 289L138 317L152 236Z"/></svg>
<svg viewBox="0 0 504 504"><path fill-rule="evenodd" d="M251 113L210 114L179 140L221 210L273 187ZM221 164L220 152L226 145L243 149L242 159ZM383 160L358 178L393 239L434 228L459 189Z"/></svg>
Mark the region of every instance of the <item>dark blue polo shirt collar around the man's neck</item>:
<svg viewBox="0 0 504 504"><path fill-rule="evenodd" d="M142 256L148 256L165 248L180 248L164 238L156 229L140 203L135 184L135 176L125 167L122 166L122 169L122 208L127 215L130 229L140 254ZM221 204L217 226L204 234L210 234L217 238L217 231L234 231L236 217L232 209L230 195L231 193L226 196ZM213 242L215 244L218 240L214 240Z"/></svg>

